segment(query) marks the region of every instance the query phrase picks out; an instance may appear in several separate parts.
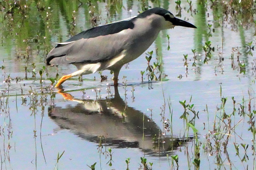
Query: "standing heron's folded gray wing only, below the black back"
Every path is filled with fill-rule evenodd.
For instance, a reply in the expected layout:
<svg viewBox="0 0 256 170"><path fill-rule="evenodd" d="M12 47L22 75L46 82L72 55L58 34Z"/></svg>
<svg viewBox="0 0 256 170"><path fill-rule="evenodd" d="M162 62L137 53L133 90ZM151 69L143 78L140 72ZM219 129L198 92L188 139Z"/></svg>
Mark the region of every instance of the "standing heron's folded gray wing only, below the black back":
<svg viewBox="0 0 256 170"><path fill-rule="evenodd" d="M120 56L126 41L124 36L116 34L79 39L68 44L59 44L48 56L54 56L48 65L92 64L105 62Z"/></svg>

